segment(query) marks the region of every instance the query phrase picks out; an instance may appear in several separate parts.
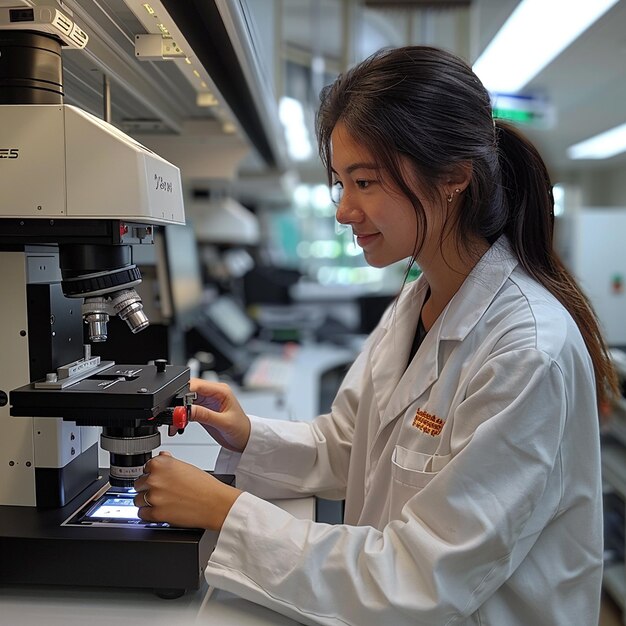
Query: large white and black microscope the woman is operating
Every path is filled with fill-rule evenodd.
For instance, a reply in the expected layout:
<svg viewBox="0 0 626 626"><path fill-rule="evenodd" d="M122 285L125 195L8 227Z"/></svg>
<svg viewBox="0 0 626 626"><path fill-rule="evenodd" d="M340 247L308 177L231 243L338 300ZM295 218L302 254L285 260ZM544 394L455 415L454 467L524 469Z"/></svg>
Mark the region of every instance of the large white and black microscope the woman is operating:
<svg viewBox="0 0 626 626"><path fill-rule="evenodd" d="M178 168L63 103L56 6L0 8L0 584L197 589L213 533L140 520L133 483L185 427L189 369L93 356L148 324L132 247L184 223ZM98 439L110 456L99 469Z"/></svg>

